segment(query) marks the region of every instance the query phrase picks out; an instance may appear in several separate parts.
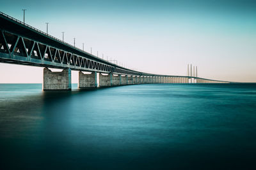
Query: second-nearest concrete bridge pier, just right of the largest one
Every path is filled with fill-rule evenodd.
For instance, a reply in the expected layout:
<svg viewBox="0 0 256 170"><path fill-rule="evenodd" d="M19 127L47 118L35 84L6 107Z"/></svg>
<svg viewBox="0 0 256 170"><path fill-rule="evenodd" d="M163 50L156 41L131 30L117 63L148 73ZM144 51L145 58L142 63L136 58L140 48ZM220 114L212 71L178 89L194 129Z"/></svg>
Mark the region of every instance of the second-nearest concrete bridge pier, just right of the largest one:
<svg viewBox="0 0 256 170"><path fill-rule="evenodd" d="M78 88L95 88L97 87L97 72L84 74L79 71L78 80Z"/></svg>

